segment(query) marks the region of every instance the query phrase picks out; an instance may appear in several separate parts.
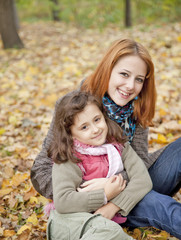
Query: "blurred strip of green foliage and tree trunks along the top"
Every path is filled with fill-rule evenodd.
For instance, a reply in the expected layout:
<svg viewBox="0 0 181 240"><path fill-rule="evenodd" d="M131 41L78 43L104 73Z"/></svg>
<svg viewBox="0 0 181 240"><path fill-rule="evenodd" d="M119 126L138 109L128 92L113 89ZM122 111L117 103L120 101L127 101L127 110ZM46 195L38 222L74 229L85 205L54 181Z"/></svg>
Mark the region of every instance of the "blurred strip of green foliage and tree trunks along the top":
<svg viewBox="0 0 181 240"><path fill-rule="evenodd" d="M18 17L20 23L53 20L100 30L110 25L131 27L132 23L159 25L181 20L181 0L0 0L4 48L23 47Z"/></svg>

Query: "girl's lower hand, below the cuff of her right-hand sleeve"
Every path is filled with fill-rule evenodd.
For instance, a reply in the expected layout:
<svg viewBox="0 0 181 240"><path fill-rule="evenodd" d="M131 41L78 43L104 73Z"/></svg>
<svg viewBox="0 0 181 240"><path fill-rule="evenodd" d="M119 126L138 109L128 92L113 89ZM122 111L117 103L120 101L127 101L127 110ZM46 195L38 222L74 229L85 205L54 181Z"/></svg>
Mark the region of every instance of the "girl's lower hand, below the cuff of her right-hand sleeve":
<svg viewBox="0 0 181 240"><path fill-rule="evenodd" d="M120 210L120 208L116 205L114 205L113 203L109 202L106 205L104 205L103 207L97 209L97 211L95 211L94 214L101 214L103 217L108 218L108 219L112 219L115 214Z"/></svg>

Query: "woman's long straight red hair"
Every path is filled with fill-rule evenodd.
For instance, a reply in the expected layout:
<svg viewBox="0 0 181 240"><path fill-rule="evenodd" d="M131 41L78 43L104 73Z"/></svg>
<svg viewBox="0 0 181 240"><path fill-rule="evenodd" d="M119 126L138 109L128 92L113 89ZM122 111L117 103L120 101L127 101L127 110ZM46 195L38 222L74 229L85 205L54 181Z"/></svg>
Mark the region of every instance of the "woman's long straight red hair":
<svg viewBox="0 0 181 240"><path fill-rule="evenodd" d="M118 60L126 55L138 55L147 64L147 74L139 99L135 101L134 116L143 127L152 125L155 114L156 88L154 65L148 51L138 42L130 39L115 41L100 64L82 84L81 89L100 98L108 90L111 72Z"/></svg>

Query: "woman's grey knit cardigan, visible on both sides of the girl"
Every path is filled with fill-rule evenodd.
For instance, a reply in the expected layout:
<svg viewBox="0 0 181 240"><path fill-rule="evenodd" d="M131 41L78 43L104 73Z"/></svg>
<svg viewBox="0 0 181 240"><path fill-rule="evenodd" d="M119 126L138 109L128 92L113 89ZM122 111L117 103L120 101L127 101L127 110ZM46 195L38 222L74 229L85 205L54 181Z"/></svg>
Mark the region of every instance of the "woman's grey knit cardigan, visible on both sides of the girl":
<svg viewBox="0 0 181 240"><path fill-rule="evenodd" d="M61 98L57 101L55 105L54 116L56 112L57 105L61 101ZM53 125L54 116L50 124L49 131L45 137L42 145L42 150L36 157L33 167L31 169L31 181L34 188L41 195L46 198L53 199L52 190L52 159L48 157L48 149L51 142L53 141ZM146 167L149 168L159 157L162 151L165 149L161 148L156 152L148 153L148 128L144 129L140 125L137 125L133 141L131 143L132 148L136 151L138 156L143 160ZM123 177L128 180L128 176L125 171L122 172Z"/></svg>

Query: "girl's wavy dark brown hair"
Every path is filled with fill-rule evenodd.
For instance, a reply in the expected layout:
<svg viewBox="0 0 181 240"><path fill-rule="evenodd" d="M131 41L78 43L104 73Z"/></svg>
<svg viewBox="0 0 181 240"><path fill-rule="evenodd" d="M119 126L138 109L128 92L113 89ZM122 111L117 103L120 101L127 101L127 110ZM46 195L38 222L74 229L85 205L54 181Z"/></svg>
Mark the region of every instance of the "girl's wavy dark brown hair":
<svg viewBox="0 0 181 240"><path fill-rule="evenodd" d="M53 125L53 142L49 149L49 157L56 163L63 163L68 160L80 162L73 154L73 138L70 127L74 124L76 114L82 112L87 104L95 104L105 117L108 134L108 142L124 143L125 138L122 136L122 129L110 120L104 112L102 102L90 93L83 91L73 91L65 95L56 105L54 125Z"/></svg>

